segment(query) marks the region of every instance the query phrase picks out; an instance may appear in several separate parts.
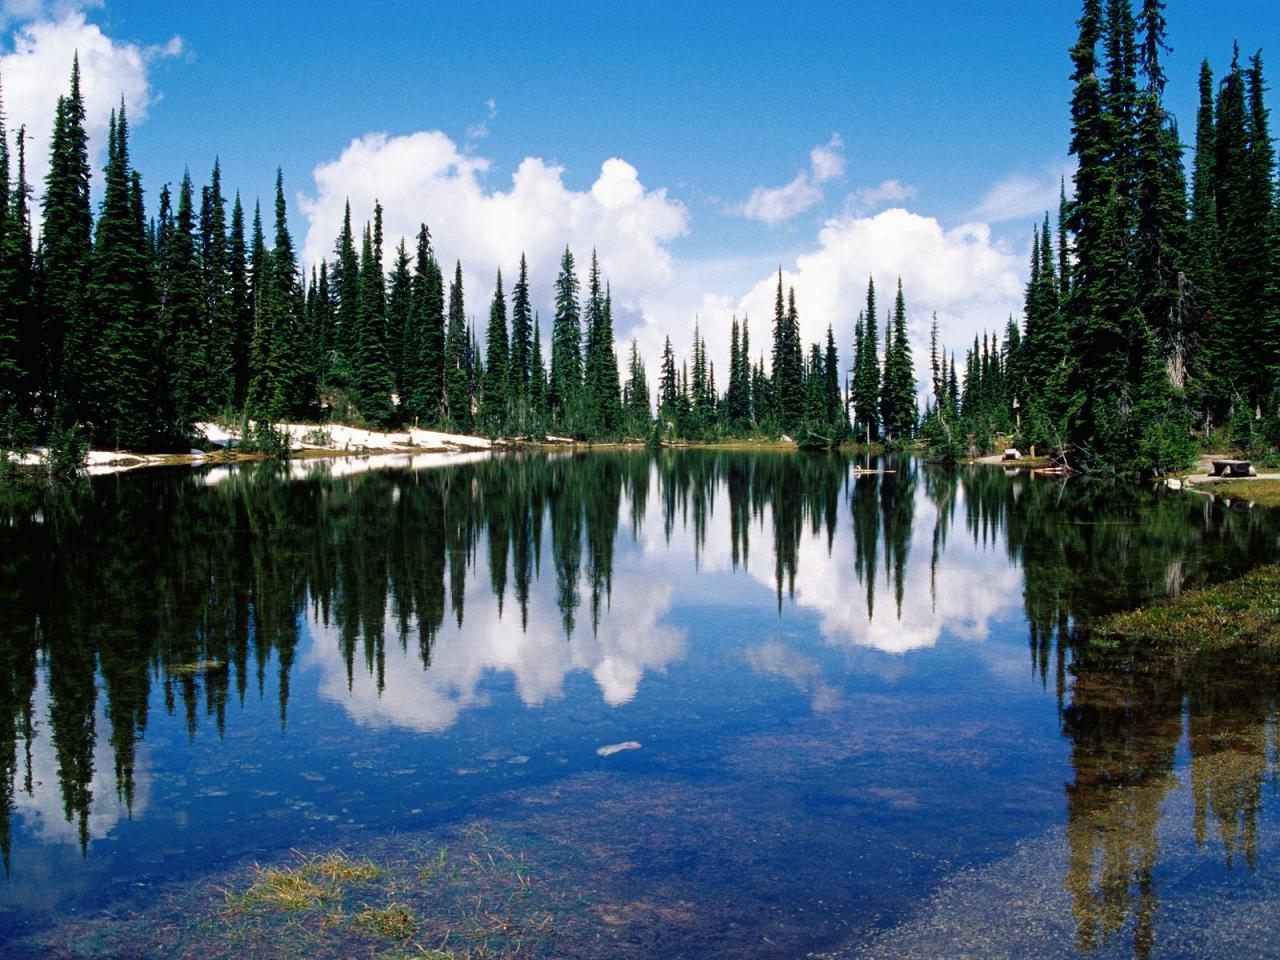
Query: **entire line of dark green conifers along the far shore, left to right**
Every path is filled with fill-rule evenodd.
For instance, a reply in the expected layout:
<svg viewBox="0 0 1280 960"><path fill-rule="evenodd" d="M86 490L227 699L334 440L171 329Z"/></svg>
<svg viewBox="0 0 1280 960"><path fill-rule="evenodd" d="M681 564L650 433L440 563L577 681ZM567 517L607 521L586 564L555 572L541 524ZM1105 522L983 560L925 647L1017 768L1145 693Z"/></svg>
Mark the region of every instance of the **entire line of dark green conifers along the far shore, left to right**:
<svg viewBox="0 0 1280 960"><path fill-rule="evenodd" d="M593 252L566 248L548 340L524 257L499 273L477 326L462 265L422 224L383 262L383 210L347 210L332 259L305 269L278 172L271 223L230 200L215 163L147 212L114 113L95 216L78 63L58 101L33 243L26 133L0 129L0 448L186 449L201 420L335 420L588 440L790 436L932 456L997 436L1071 466L1161 472L1197 442L1280 445L1280 205L1261 54L1201 70L1190 183L1164 104L1161 0L1084 0L1070 50L1070 154L1057 223L1033 232L1023 317L961 360L938 349L919 410L901 283L883 325L874 282L850 362L828 326L804 344L778 274L755 351L733 319L728 370L695 326L650 379L635 342L620 367L613 298ZM228 212L229 207L229 212ZM508 278L509 279L509 278ZM475 285L468 280L470 296ZM474 301L472 301L474 302ZM852 312L852 307L850 307ZM268 438L269 439L269 438Z"/></svg>

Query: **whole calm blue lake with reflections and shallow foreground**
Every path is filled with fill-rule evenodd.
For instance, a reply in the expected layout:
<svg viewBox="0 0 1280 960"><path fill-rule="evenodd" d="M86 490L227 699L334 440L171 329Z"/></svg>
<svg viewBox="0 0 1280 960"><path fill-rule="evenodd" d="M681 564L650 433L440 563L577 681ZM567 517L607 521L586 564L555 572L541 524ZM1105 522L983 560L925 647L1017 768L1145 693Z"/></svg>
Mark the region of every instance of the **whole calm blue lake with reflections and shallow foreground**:
<svg viewBox="0 0 1280 960"><path fill-rule="evenodd" d="M1261 509L817 454L10 493L0 955L1276 956L1277 664L1075 625L1277 556ZM337 850L380 879L234 906Z"/></svg>

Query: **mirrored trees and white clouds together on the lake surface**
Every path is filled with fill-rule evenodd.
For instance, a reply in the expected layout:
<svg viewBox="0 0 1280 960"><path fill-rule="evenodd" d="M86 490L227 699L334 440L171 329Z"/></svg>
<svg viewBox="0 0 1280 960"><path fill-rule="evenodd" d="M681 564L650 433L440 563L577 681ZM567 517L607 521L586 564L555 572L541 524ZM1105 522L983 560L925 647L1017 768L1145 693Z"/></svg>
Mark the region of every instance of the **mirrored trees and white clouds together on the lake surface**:
<svg viewBox="0 0 1280 960"><path fill-rule="evenodd" d="M1277 535L1271 513L1192 497L696 451L151 471L10 497L0 850L8 869L15 814L82 851L145 814L154 709L223 736L271 696L288 730L301 676L355 724L416 733L454 728L494 677L541 708L582 675L621 707L689 658L682 607L730 622L755 585L771 616L812 614L827 649L886 675L943 637L1025 635L1070 749L1076 947L1146 955L1172 792L1192 794L1198 846L1257 868L1280 672L1100 652L1075 625L1243 571ZM846 709L832 663L781 632L745 636L739 662L815 714Z"/></svg>

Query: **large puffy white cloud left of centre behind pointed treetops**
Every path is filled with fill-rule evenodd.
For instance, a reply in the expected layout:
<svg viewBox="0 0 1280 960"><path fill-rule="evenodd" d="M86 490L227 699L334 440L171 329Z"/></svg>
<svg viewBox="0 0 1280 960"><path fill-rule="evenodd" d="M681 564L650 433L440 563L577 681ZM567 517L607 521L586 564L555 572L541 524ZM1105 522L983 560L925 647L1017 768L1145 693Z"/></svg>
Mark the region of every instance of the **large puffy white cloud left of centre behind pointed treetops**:
<svg viewBox="0 0 1280 960"><path fill-rule="evenodd" d="M349 197L357 221L381 201L388 251L425 221L442 261L462 261L471 278L468 311L476 315L497 270L507 275L508 287L515 280L521 253L529 257L535 302L550 302L566 244L579 259L580 274L591 250L599 252L620 306L669 283L667 244L687 230L689 212L666 189L645 188L627 161L605 160L586 191L571 189L564 168L539 157L522 160L507 189L485 182L489 169L488 159L460 150L439 131L353 140L337 160L316 166L314 196L300 197L307 219L303 256L310 262L332 257Z"/></svg>

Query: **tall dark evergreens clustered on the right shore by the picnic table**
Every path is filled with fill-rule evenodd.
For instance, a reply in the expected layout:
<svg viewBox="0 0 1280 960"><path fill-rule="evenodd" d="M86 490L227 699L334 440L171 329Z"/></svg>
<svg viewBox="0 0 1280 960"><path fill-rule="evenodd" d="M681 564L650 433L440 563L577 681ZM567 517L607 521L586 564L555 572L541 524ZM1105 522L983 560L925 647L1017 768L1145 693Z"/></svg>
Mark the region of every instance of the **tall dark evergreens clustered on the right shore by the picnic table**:
<svg viewBox="0 0 1280 960"><path fill-rule="evenodd" d="M1034 230L1024 323L934 364L940 448L1016 433L1073 465L1160 472L1197 440L1280 445L1280 210L1262 54L1199 73L1188 189L1164 104L1165 4L1084 0L1074 195Z"/></svg>

